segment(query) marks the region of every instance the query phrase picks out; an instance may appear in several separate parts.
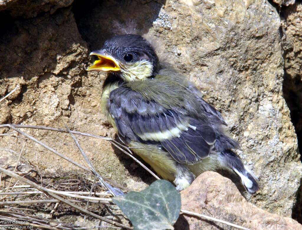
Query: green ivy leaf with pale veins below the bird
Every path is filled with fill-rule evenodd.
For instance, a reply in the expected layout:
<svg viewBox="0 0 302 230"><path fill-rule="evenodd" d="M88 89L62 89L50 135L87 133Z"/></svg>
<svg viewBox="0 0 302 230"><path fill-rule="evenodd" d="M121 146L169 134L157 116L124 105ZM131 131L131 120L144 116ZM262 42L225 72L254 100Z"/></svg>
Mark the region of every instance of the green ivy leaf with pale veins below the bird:
<svg viewBox="0 0 302 230"><path fill-rule="evenodd" d="M112 200L135 230L174 229L181 207L180 193L167 180L156 180L141 192L129 192Z"/></svg>

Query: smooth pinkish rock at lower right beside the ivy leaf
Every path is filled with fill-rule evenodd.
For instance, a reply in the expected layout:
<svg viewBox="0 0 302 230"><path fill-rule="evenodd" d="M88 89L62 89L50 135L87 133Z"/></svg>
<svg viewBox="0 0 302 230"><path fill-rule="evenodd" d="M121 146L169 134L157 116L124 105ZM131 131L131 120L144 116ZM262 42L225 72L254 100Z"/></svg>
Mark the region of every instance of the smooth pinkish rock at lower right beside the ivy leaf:
<svg viewBox="0 0 302 230"><path fill-rule="evenodd" d="M249 229L301 229L297 221L269 213L247 202L233 182L215 172L204 172L181 192L182 209ZM175 230L230 229L227 225L181 215Z"/></svg>

